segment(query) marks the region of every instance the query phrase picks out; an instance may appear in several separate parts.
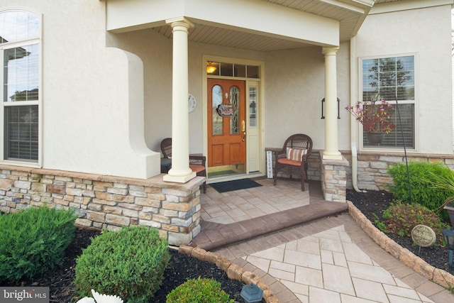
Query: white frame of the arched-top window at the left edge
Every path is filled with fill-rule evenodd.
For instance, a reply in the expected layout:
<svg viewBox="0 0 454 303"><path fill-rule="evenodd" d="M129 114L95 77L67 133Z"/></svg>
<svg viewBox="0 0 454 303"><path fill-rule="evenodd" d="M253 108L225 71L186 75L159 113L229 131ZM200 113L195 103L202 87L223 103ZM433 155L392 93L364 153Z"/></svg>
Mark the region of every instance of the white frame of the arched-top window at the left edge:
<svg viewBox="0 0 454 303"><path fill-rule="evenodd" d="M40 13L37 13L32 10L23 9L23 8L9 8L9 9L0 9L0 13L5 13L7 11L24 11L27 13L33 13L35 16L38 16L40 23L40 30L38 37L28 38L23 40L17 40L7 43L0 44L0 63L1 63L1 72L0 72L0 96L1 96L1 106L0 106L0 117L3 121L0 123L0 163L5 165L17 165L17 166L26 166L26 167L43 167L43 106L42 106L42 67L43 67L43 16ZM4 50L11 48L17 48L21 46L38 44L39 54L38 54L38 100L33 101L13 101L5 102L3 100L4 96ZM38 160L9 160L6 159L5 155L5 109L9 106L38 106Z"/></svg>

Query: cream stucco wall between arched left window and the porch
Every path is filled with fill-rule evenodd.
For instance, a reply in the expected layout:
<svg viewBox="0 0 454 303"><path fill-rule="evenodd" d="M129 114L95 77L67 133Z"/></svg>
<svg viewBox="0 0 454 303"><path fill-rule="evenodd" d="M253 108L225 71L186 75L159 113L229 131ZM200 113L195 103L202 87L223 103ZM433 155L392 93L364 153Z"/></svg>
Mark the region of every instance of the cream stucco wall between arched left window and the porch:
<svg viewBox="0 0 454 303"><path fill-rule="evenodd" d="M143 140L142 62L106 48L102 1L0 1L43 17L43 167L147 178L159 153ZM57 30L60 28L60 30ZM142 120L140 119L142 117Z"/></svg>

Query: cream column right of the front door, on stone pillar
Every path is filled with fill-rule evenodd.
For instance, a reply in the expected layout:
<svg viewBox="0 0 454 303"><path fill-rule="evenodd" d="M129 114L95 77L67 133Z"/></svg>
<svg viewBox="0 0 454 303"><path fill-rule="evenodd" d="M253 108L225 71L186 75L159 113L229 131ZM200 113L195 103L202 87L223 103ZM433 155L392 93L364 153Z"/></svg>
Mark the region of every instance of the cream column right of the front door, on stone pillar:
<svg viewBox="0 0 454 303"><path fill-rule="evenodd" d="M323 159L341 160L338 146L338 106L336 53L339 48L323 48L325 55L325 150Z"/></svg>

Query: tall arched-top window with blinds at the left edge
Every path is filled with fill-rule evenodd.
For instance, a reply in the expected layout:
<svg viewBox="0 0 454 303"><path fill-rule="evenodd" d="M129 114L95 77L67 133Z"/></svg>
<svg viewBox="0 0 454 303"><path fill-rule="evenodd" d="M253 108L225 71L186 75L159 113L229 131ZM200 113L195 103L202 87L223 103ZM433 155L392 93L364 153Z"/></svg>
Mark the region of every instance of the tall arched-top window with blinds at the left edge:
<svg viewBox="0 0 454 303"><path fill-rule="evenodd" d="M0 11L3 159L38 162L40 16Z"/></svg>

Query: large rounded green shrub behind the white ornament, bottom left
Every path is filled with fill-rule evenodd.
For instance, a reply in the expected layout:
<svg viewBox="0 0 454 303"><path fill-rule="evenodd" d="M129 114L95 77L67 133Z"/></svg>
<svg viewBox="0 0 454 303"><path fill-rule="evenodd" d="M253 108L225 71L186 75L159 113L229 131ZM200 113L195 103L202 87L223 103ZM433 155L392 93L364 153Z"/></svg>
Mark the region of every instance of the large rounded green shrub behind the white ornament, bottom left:
<svg viewBox="0 0 454 303"><path fill-rule="evenodd" d="M156 228L104 231L77 259L74 285L82 297L94 289L128 303L148 302L159 289L169 260L167 240Z"/></svg>

